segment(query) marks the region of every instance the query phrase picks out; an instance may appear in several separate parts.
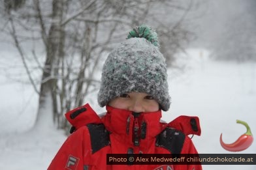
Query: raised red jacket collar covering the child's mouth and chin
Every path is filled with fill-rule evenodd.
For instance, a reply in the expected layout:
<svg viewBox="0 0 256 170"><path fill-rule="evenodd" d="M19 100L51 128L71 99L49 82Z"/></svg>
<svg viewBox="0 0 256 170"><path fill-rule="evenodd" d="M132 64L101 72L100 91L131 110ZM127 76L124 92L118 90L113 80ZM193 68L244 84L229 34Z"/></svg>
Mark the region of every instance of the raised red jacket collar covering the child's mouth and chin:
<svg viewBox="0 0 256 170"><path fill-rule="evenodd" d="M163 130L161 126L161 110L148 113L133 113L125 109L117 109L106 106L106 115L102 121L112 134L125 138L128 143L140 145L159 134Z"/></svg>

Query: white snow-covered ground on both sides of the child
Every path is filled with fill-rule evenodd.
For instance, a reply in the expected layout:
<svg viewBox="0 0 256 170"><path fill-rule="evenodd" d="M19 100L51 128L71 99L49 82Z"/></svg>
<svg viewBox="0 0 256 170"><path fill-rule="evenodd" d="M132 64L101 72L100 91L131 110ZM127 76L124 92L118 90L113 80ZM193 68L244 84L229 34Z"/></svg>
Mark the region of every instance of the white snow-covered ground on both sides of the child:
<svg viewBox="0 0 256 170"><path fill-rule="evenodd" d="M184 72L168 70L172 105L163 113L163 120L169 122L179 115L199 116L202 135L193 137L199 153L229 154L231 152L219 144L219 135L223 133L223 141L232 143L244 134L246 128L236 124L236 119L248 122L252 133L256 134L256 64L212 61L204 50L188 50L187 53L188 56L181 56L179 61L187 63ZM16 61L12 62L14 66ZM5 64L2 56L0 63ZM31 85L18 83L5 75L8 70L1 70L0 169L46 169L66 137L57 130L29 130L35 122L37 95ZM103 111L96 102L91 106L99 113ZM247 153L256 153L255 142L249 149L236 152ZM203 167L206 170L256 169L256 165Z"/></svg>

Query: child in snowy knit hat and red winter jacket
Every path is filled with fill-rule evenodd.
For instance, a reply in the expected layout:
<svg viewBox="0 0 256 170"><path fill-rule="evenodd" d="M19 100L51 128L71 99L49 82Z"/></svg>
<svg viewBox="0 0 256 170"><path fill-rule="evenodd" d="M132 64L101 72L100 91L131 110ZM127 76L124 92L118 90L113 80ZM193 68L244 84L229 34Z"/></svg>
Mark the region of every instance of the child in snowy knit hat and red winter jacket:
<svg viewBox="0 0 256 170"><path fill-rule="evenodd" d="M88 104L66 113L72 134L48 169L202 169L170 163L107 164L106 154L197 154L187 137L200 135L197 117L180 116L168 124L160 121L161 110L170 107L167 68L157 35L148 26L133 29L108 55L98 102L106 106L103 117Z"/></svg>

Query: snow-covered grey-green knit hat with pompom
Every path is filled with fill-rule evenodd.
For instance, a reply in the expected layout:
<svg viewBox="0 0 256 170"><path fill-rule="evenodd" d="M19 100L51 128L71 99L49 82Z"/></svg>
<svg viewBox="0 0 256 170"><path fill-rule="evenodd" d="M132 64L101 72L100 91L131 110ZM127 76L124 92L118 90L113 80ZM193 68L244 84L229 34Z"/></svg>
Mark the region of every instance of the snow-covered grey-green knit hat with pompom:
<svg viewBox="0 0 256 170"><path fill-rule="evenodd" d="M159 51L157 34L147 25L135 27L125 42L106 59L98 102L101 107L129 92L152 96L163 111L170 107L167 68Z"/></svg>

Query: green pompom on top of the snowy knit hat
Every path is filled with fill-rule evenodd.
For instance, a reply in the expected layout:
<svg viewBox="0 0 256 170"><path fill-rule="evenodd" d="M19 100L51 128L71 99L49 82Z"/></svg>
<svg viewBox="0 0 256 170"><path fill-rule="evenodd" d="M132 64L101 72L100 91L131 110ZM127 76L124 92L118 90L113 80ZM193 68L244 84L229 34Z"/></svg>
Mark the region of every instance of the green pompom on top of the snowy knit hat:
<svg viewBox="0 0 256 170"><path fill-rule="evenodd" d="M140 25L135 27L132 31L129 32L127 39L133 37L146 38L146 40L150 41L154 46L159 47L157 33L155 33L155 31L148 25Z"/></svg>

